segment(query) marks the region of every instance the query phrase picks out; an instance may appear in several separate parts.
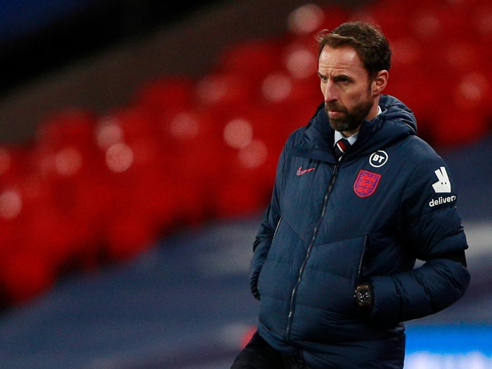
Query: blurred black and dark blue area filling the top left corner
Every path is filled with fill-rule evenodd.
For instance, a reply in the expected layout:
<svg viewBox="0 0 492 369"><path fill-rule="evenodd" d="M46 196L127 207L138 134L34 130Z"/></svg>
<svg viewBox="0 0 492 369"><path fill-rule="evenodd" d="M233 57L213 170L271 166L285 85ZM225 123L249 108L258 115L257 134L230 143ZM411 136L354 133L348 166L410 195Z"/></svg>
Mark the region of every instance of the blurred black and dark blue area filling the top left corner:
<svg viewBox="0 0 492 369"><path fill-rule="evenodd" d="M220 2L5 0L0 9L0 93Z"/></svg>

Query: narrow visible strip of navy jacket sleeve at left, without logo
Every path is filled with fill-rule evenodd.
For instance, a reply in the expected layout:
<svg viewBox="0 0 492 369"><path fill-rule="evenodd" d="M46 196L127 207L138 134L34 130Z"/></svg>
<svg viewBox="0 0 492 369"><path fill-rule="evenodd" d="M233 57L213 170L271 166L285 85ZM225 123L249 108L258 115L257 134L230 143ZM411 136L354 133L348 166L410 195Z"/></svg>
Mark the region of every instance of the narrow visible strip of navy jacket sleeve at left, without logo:
<svg viewBox="0 0 492 369"><path fill-rule="evenodd" d="M250 288L251 293L256 299L260 299L258 292L258 277L260 275L261 268L265 259L267 259L268 251L272 243L273 235L277 228L277 224L280 221L280 188L285 167L285 157L288 147L288 142L285 144L282 153L278 159L277 171L275 175L275 183L272 191L272 199L263 214L263 222L260 224L260 228L253 242L253 258L250 262Z"/></svg>

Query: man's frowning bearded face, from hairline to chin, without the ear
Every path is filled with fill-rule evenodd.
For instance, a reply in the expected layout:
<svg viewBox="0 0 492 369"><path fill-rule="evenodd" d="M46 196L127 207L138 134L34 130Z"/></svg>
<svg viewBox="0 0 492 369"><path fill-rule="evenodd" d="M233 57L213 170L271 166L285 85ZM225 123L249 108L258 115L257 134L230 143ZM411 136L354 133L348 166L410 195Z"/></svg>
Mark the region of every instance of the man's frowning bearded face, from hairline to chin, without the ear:
<svg viewBox="0 0 492 369"><path fill-rule="evenodd" d="M357 52L351 46L325 46L318 60L318 75L330 126L336 131L356 132L374 105L368 74Z"/></svg>

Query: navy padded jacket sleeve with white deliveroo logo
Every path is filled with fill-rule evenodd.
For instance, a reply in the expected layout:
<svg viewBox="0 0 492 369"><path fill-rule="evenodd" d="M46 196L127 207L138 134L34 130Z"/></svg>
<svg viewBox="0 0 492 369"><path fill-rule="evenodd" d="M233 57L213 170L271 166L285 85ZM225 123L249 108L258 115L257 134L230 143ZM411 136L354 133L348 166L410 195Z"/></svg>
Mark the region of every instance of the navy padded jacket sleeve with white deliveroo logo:
<svg viewBox="0 0 492 369"><path fill-rule="evenodd" d="M470 275L456 255L462 255L466 265L468 245L448 174L444 161L435 155L421 162L410 176L400 202L399 222L410 252L425 263L408 272L370 278L374 321L396 324L421 318L439 312L465 293Z"/></svg>

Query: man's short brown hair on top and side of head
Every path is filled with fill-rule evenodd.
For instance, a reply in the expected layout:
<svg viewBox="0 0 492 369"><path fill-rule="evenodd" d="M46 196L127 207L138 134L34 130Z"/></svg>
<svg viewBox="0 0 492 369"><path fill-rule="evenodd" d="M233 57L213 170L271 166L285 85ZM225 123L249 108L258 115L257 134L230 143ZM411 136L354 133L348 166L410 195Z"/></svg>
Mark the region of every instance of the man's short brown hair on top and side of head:
<svg viewBox="0 0 492 369"><path fill-rule="evenodd" d="M318 59L325 46L338 48L352 46L359 55L369 77L374 77L380 70L389 71L391 49L381 29L361 22L343 23L333 31L323 30L318 34Z"/></svg>

